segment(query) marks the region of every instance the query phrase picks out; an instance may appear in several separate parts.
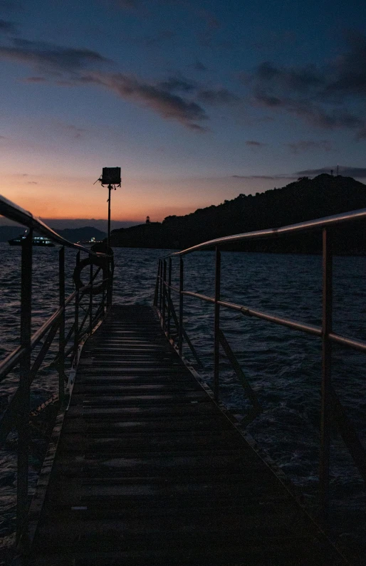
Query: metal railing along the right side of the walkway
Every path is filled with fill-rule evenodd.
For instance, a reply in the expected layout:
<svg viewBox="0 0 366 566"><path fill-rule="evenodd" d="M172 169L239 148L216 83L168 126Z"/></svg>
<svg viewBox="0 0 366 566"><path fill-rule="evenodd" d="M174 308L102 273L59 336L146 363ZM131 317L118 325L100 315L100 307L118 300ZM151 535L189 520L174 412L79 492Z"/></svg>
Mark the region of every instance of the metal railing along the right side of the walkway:
<svg viewBox="0 0 366 566"><path fill-rule="evenodd" d="M199 365L201 361L197 351L194 349L191 340L184 330L184 296L197 298L214 306L214 399L219 401L219 360L220 347L224 350L231 367L243 385L246 395L251 402L251 410L244 423L252 421L262 407L256 396L256 392L244 376L243 370L239 365L234 352L231 350L229 342L226 340L223 330L220 327L220 310L226 308L241 313L244 316L267 320L270 323L285 326L293 330L299 330L310 335L320 337L322 343L322 370L321 370L321 407L320 407L320 468L319 468L319 498L320 513L325 518L328 513L329 505L329 486L330 486L330 435L333 423L338 427L338 431L343 438L347 450L350 452L355 465L357 466L363 480L366 482L366 451L357 436L357 431L352 422L347 418L347 414L338 395L335 392L331 377L332 345L338 344L343 347L351 348L366 353L366 342L356 340L343 335L336 334L332 329L333 311L333 250L332 250L332 229L340 224L345 224L357 220L366 219L366 209L328 216L323 219L283 226L278 229L266 229L260 231L247 232L245 234L234 234L225 236L197 246L184 249L169 256L161 258L157 267L157 278L155 283L154 305L157 308L162 321L162 327L167 337L177 348L182 357L184 341L189 346L192 354ZM248 306L231 303L221 300L221 246L242 242L247 240L271 239L285 235L299 234L308 231L323 231L323 314L322 325L313 326L302 323L298 320L289 320L281 316L276 316L261 312ZM215 249L216 268L215 268L215 288L214 296L195 293L191 290L184 290L184 262L183 256L195 251ZM179 258L179 288L172 285L172 259ZM172 293L179 295L179 312L175 311L172 301ZM172 323L175 332L172 332Z"/></svg>

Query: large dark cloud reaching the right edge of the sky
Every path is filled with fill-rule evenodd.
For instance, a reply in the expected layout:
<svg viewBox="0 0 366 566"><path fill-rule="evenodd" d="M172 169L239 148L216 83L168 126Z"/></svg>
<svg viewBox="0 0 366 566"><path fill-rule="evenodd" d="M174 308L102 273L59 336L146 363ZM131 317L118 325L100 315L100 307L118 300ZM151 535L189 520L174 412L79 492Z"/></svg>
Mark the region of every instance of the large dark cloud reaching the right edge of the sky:
<svg viewBox="0 0 366 566"><path fill-rule="evenodd" d="M281 67L264 61L252 73L242 73L251 102L285 111L323 129L355 130L366 137L360 102L366 98L366 36L347 34L345 53L330 63Z"/></svg>

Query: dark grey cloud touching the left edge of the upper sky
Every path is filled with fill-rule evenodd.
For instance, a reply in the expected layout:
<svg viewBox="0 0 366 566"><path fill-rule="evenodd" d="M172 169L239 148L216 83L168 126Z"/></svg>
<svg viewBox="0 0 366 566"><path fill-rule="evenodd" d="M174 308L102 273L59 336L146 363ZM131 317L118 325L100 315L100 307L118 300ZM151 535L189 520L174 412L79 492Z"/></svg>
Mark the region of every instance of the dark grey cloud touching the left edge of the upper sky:
<svg viewBox="0 0 366 566"><path fill-rule="evenodd" d="M60 74L110 63L110 60L89 49L66 48L43 41L14 38L11 47L0 46L0 59L26 63L36 70Z"/></svg>

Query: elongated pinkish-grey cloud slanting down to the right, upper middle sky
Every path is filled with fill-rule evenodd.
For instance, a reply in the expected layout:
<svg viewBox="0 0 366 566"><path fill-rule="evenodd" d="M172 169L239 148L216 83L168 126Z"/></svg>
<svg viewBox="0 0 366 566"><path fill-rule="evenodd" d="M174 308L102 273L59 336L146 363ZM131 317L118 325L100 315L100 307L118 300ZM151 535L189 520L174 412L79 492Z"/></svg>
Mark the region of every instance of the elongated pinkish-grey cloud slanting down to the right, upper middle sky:
<svg viewBox="0 0 366 566"><path fill-rule="evenodd" d="M206 130L196 123L208 119L202 106L169 93L160 85L145 83L122 73L91 73L83 77L83 82L104 86L125 100L142 103L166 120L177 120L190 130Z"/></svg>

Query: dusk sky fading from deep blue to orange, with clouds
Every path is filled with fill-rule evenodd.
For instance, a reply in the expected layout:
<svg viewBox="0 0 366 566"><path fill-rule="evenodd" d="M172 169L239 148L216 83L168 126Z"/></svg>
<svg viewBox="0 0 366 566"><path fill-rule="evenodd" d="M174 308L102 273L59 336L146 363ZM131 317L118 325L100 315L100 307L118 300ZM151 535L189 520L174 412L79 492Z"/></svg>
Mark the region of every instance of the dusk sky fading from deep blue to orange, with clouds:
<svg viewBox="0 0 366 566"><path fill-rule="evenodd" d="M0 0L0 81L0 193L48 221L105 219L103 167L115 221L365 182L363 1Z"/></svg>

